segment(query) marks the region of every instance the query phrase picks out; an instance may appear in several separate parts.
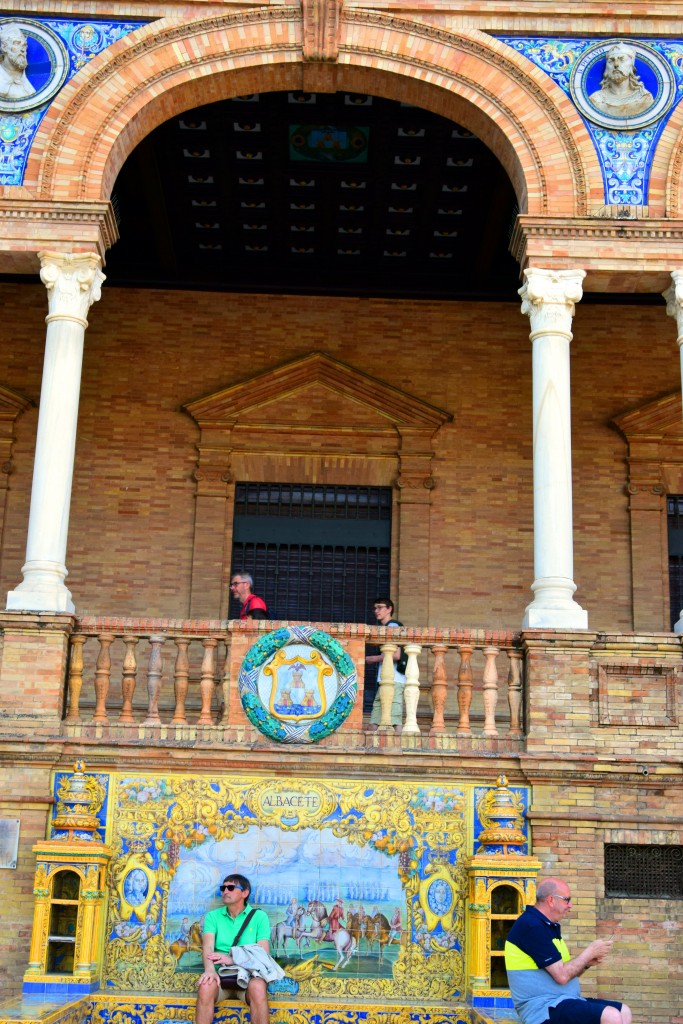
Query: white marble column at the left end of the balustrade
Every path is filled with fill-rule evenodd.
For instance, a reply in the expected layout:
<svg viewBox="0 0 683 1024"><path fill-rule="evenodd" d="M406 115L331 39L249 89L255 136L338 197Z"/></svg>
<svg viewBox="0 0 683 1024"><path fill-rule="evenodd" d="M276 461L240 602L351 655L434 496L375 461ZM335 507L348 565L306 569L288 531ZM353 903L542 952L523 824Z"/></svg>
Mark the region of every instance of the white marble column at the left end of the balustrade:
<svg viewBox="0 0 683 1024"><path fill-rule="evenodd" d="M24 580L7 595L7 609L72 612L65 580L83 342L104 274L93 253L38 256L49 310L43 383Z"/></svg>

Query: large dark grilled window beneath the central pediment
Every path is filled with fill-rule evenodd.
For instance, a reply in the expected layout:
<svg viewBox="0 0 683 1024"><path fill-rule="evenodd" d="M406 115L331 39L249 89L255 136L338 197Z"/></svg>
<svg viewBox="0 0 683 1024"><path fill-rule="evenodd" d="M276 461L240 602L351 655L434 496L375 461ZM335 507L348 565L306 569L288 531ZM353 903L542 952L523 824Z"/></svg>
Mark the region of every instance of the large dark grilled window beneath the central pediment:
<svg viewBox="0 0 683 1024"><path fill-rule="evenodd" d="M275 618L374 622L390 557L390 487L236 485L231 571L254 578Z"/></svg>

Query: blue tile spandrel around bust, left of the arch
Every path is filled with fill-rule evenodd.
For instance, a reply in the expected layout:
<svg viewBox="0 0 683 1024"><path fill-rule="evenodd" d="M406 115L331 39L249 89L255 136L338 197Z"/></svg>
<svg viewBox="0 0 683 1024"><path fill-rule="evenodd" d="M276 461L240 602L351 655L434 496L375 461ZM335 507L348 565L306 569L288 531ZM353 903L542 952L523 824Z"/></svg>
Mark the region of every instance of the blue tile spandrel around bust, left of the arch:
<svg viewBox="0 0 683 1024"><path fill-rule="evenodd" d="M39 105L2 104L0 110L0 185L20 185L31 145L56 92L88 61L118 39L139 29L135 22L83 22L62 18L0 17L17 25L28 41L29 74ZM56 89L53 87L56 86Z"/></svg>

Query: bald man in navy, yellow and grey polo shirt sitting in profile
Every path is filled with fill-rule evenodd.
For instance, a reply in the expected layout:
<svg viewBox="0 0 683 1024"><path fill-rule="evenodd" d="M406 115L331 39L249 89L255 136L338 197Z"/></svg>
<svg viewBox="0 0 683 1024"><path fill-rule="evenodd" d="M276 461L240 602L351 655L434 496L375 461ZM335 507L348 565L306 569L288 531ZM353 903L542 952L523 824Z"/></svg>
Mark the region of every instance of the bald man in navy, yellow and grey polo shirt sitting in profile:
<svg viewBox="0 0 683 1024"><path fill-rule="evenodd" d="M571 909L569 887L560 879L539 885L536 906L527 906L508 934L505 966L522 1024L631 1024L625 1002L584 998L579 976L600 964L611 939L596 939L571 957L560 921Z"/></svg>

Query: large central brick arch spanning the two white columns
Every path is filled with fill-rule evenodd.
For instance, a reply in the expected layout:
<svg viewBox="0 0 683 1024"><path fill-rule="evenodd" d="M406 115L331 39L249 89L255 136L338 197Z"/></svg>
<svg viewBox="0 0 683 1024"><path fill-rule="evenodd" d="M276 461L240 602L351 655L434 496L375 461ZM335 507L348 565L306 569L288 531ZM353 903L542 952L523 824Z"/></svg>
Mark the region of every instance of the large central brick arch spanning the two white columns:
<svg viewBox="0 0 683 1024"><path fill-rule="evenodd" d="M381 31L378 31L380 29ZM342 15L339 59L303 59L297 8L157 22L99 54L56 97L25 184L46 201L109 199L128 155L194 106L248 92L371 92L458 121L505 167L522 212L575 216L601 176L572 104L523 56L477 31L377 12Z"/></svg>

